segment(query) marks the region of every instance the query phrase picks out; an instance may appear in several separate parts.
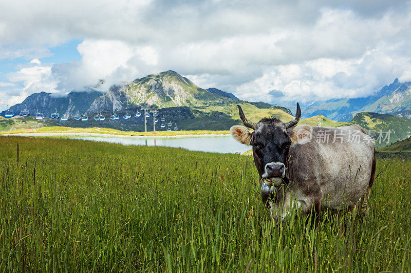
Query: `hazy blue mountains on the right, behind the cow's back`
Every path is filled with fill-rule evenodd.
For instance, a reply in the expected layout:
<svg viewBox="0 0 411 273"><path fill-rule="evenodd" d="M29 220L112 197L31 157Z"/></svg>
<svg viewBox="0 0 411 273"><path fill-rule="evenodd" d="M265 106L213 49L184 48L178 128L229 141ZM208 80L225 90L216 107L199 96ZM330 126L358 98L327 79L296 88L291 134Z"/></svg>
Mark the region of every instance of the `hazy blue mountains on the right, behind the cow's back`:
<svg viewBox="0 0 411 273"><path fill-rule="evenodd" d="M359 112L391 114L411 109L410 87L411 82L401 83L396 78L390 85L367 97L312 102L302 107L302 115L324 115L338 121L349 121Z"/></svg>

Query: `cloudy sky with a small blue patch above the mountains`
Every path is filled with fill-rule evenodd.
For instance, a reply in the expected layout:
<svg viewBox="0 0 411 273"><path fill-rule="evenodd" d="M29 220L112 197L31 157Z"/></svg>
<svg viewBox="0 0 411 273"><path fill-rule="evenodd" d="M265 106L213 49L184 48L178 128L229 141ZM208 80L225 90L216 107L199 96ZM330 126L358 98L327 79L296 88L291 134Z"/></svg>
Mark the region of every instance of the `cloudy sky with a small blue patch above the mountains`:
<svg viewBox="0 0 411 273"><path fill-rule="evenodd" d="M0 100L11 104L166 70L272 103L411 80L409 1L0 1Z"/></svg>

